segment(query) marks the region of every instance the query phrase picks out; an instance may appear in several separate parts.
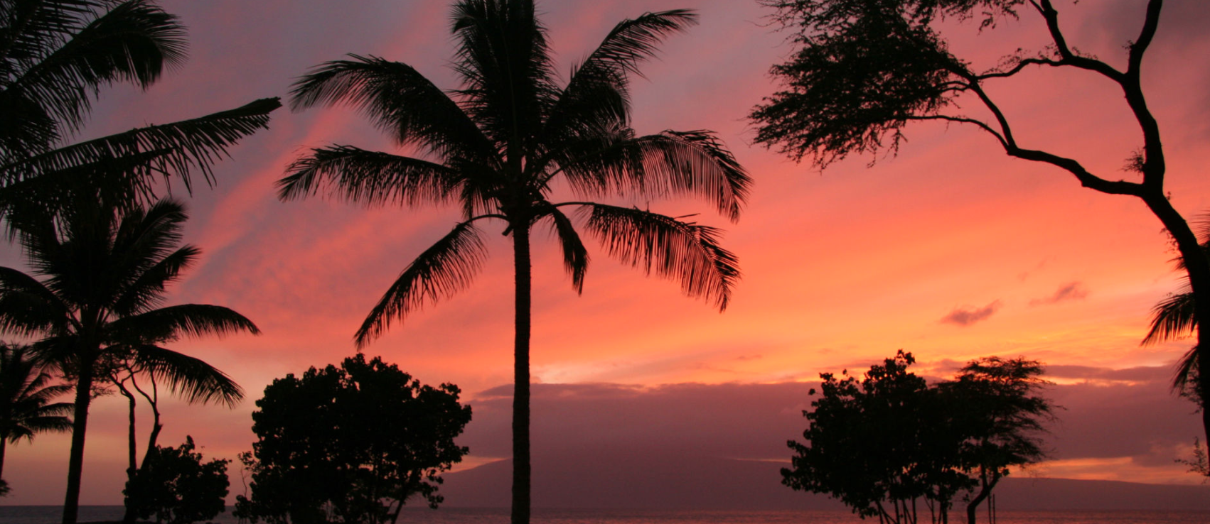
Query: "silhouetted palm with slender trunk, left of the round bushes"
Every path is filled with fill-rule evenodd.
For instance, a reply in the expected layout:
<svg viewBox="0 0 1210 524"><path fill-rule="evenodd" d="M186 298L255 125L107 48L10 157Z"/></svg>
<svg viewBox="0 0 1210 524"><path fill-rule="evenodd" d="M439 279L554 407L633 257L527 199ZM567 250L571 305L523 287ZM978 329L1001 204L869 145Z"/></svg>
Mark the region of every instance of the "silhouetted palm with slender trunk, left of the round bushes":
<svg viewBox="0 0 1210 524"><path fill-rule="evenodd" d="M157 375L185 397L238 396L225 375L217 384L198 382L201 361L160 344L184 336L259 331L219 305L160 307L166 286L200 252L175 248L186 219L182 204L166 199L145 210L117 210L96 192L68 193L74 203L57 212L30 206L10 216L33 274L0 267L0 331L45 337L38 343L40 353L75 383L63 508L63 522L70 524L79 506L88 403L108 367L136 355L154 362Z"/></svg>

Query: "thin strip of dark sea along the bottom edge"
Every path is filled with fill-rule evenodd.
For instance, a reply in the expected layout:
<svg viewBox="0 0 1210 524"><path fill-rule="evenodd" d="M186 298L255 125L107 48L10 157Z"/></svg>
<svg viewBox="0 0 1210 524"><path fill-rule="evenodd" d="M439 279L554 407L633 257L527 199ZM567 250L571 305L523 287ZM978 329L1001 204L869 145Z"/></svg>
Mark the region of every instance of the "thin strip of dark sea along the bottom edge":
<svg viewBox="0 0 1210 524"><path fill-rule="evenodd" d="M0 524L56 524L58 506L0 506ZM80 522L120 520L120 506L81 506ZM927 514L921 522L927 522ZM963 522L953 516L953 522ZM408 508L399 524L500 524L508 522L507 508ZM857 524L860 520L840 511L662 511L662 510L535 510L535 524ZM986 522L986 519L981 520ZM1210 512L1163 511L1002 511L998 524L1205 524ZM223 514L215 523L236 524Z"/></svg>

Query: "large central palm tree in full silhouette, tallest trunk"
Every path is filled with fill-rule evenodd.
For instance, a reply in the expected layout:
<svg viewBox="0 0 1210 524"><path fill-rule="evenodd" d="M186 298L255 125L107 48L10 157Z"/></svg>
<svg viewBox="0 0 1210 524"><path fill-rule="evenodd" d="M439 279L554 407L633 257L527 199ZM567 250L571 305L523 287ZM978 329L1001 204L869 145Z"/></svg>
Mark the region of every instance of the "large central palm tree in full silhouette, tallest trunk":
<svg viewBox="0 0 1210 524"><path fill-rule="evenodd" d="M450 203L462 220L420 254L357 331L364 347L392 321L466 287L486 256L483 221L513 240L515 338L512 522L530 516L530 234L555 233L572 286L583 290L588 251L576 229L645 272L678 280L690 296L725 309L739 278L719 231L599 197L692 194L738 220L750 179L709 132L636 135L627 76L669 34L696 22L688 11L618 23L566 83L555 78L546 28L532 0L461 0L453 8L456 91L443 92L409 65L350 56L312 69L292 91L295 110L358 107L401 146L422 157L334 145L315 149L278 181L282 199L333 193L365 205ZM552 199L567 187L577 198ZM566 212L575 210L576 212Z"/></svg>

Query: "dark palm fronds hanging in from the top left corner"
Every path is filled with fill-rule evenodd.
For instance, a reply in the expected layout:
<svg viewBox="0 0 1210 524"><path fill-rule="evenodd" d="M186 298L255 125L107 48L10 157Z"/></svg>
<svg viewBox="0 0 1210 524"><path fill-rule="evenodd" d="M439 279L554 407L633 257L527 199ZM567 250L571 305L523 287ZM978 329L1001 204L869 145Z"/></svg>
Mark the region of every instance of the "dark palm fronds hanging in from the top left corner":
<svg viewBox="0 0 1210 524"><path fill-rule="evenodd" d="M100 87L146 88L184 60L184 36L152 0L0 1L0 211L30 199L59 205L53 190L81 179L128 202L149 196L160 175L174 173L186 188L195 171L212 182L211 164L266 127L276 98L65 144Z"/></svg>

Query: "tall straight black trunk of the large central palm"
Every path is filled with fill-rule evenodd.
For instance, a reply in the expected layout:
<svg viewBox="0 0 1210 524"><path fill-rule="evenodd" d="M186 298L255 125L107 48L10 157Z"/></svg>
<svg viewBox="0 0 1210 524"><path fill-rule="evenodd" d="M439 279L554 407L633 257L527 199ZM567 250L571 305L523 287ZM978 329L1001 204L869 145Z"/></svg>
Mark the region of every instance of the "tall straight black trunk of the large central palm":
<svg viewBox="0 0 1210 524"><path fill-rule="evenodd" d="M513 228L515 338L513 340L513 510L512 524L530 519L530 245L529 225Z"/></svg>

